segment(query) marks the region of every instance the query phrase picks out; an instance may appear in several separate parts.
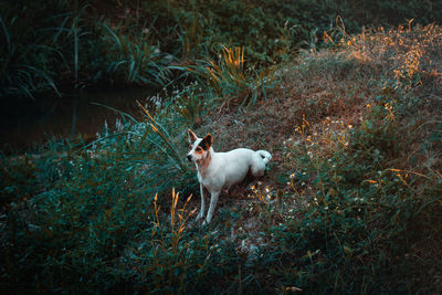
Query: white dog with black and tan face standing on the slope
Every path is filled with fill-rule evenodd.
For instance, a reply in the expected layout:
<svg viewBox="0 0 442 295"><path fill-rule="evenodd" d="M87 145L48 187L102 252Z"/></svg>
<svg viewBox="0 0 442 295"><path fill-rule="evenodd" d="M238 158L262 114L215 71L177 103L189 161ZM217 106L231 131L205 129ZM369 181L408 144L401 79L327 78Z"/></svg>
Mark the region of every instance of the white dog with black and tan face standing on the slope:
<svg viewBox="0 0 442 295"><path fill-rule="evenodd" d="M212 148L213 137L208 134L199 138L188 129L189 148L187 159L194 162L200 182L201 210L197 220L204 215L204 189L210 192L210 207L203 224L210 223L221 191L240 183L250 172L253 177L262 177L266 164L272 155L266 150L254 151L248 148L238 148L227 152L215 152Z"/></svg>

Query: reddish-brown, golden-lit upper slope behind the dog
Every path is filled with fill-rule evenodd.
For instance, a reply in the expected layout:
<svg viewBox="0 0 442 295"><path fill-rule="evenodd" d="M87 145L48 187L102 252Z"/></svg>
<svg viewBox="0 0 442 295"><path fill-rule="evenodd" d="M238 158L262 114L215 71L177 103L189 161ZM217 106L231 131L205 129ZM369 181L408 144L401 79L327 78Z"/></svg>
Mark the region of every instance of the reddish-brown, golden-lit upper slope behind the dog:
<svg viewBox="0 0 442 295"><path fill-rule="evenodd" d="M376 101L378 96L389 96L397 104L412 95L432 99L418 110L422 118L417 124L438 114L434 106L440 103L434 97L440 96L442 82L440 27L365 30L335 43L328 50L303 52L295 64L282 69L282 83L267 102L240 115L233 109L212 116L203 130L214 134L215 147L267 148L276 154L277 161L282 143L305 120L316 133L327 128L325 120L357 126L367 105L382 104Z"/></svg>

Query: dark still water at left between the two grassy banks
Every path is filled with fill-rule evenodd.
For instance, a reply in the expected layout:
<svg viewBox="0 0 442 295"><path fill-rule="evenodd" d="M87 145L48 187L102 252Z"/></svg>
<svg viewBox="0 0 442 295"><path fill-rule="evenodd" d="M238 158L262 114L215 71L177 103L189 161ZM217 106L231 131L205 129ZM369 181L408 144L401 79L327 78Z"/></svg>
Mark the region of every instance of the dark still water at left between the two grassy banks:
<svg viewBox="0 0 442 295"><path fill-rule="evenodd" d="M93 137L105 120L114 127L120 114L106 105L136 118L141 117L136 99L145 103L155 92L150 89L113 89L82 93L75 97L48 97L34 102L9 102L0 112L0 147L17 151L42 144L49 138Z"/></svg>

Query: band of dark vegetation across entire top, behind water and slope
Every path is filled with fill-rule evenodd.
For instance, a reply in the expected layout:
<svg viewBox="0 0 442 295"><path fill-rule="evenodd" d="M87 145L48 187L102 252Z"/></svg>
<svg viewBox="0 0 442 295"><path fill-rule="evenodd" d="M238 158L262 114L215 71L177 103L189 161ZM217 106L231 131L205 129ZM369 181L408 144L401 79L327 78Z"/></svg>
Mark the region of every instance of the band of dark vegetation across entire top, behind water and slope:
<svg viewBox="0 0 442 295"><path fill-rule="evenodd" d="M240 46L246 67L288 61L314 48L340 15L347 32L366 24L425 24L439 1L99 1L0 3L0 96L97 85L164 86L183 67Z"/></svg>

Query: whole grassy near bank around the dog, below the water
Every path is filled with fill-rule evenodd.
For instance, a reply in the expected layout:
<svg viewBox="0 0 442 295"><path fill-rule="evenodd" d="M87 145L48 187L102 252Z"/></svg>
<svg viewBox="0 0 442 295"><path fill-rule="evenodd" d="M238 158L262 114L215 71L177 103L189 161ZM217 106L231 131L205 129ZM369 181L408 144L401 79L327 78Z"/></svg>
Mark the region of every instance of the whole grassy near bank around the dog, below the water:
<svg viewBox="0 0 442 295"><path fill-rule="evenodd" d="M2 288L440 292L442 30L327 35L328 48L274 70L278 83L249 106L220 107L219 84L200 82L90 145L2 156ZM206 77L249 83L248 52L224 54ZM193 93L201 109L181 99ZM193 221L198 180L180 158L191 124L215 150L273 155L207 228Z"/></svg>

